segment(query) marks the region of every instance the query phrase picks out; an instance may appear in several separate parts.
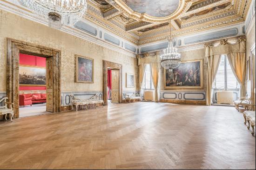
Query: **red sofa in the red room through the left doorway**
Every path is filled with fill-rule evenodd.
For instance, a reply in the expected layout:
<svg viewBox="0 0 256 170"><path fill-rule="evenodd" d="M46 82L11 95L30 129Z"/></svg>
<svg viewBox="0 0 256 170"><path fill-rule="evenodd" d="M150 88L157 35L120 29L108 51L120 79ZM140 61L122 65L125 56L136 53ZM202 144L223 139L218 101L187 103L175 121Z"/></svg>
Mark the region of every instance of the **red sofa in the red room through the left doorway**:
<svg viewBox="0 0 256 170"><path fill-rule="evenodd" d="M32 105L35 103L46 103L45 93L32 93L32 94L20 94L19 95L20 106Z"/></svg>

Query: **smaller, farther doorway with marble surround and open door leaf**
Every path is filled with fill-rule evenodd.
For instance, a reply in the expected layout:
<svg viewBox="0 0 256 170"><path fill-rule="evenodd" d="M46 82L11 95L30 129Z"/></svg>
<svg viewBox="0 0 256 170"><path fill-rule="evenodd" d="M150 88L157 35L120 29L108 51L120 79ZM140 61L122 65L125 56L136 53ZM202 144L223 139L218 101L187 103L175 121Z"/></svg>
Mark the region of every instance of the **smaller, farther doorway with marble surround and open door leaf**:
<svg viewBox="0 0 256 170"><path fill-rule="evenodd" d="M111 104L122 102L122 65L103 60L103 100L105 105L108 105L109 98L111 98Z"/></svg>

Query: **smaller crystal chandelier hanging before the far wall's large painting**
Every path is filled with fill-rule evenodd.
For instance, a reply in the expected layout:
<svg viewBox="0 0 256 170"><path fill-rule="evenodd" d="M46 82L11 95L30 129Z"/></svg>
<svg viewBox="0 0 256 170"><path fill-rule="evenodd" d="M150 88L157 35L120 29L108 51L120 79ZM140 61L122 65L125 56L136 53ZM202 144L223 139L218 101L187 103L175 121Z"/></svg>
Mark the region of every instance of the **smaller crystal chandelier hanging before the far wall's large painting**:
<svg viewBox="0 0 256 170"><path fill-rule="evenodd" d="M168 47L163 50L163 54L160 55L160 57L162 67L169 69L169 71L172 71L172 69L178 67L181 63L181 54L178 53L177 48L173 46L171 31L170 36L168 36Z"/></svg>

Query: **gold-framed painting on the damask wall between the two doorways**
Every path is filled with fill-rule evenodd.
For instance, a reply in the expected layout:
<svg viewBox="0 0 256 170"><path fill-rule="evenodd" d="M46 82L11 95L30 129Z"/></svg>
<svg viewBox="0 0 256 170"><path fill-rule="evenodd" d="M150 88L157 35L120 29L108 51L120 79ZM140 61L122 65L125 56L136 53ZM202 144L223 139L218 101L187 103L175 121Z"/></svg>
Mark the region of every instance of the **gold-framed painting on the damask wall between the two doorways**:
<svg viewBox="0 0 256 170"><path fill-rule="evenodd" d="M75 55L76 57L76 82L94 82L94 59Z"/></svg>

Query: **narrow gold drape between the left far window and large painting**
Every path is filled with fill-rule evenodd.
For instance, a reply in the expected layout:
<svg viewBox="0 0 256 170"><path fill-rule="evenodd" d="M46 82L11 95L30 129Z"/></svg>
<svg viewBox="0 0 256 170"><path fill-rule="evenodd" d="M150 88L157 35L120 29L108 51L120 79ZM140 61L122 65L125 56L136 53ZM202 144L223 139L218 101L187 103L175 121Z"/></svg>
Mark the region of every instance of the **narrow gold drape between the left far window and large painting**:
<svg viewBox="0 0 256 170"><path fill-rule="evenodd" d="M159 79L160 64L151 63L150 68L151 68L153 85L155 87L155 102L158 102L158 79Z"/></svg>

